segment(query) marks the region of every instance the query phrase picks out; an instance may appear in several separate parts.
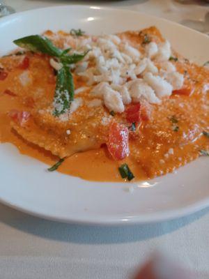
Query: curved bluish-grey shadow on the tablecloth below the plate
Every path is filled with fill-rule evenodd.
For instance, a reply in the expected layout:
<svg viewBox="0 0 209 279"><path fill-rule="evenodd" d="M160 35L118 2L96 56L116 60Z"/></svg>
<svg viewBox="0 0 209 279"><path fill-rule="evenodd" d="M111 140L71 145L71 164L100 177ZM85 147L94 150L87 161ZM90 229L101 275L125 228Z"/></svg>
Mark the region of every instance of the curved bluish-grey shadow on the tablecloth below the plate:
<svg viewBox="0 0 209 279"><path fill-rule="evenodd" d="M209 208L183 218L162 223L98 227L44 220L0 204L1 223L45 239L83 244L125 243L153 239L185 227L199 220L206 213L209 213Z"/></svg>

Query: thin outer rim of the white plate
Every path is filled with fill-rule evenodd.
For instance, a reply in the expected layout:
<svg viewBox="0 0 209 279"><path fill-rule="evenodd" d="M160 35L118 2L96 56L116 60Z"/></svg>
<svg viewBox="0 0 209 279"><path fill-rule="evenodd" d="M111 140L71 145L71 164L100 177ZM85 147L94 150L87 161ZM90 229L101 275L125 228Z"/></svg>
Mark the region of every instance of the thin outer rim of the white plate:
<svg viewBox="0 0 209 279"><path fill-rule="evenodd" d="M123 9L123 8L111 8L111 7L107 7L107 6L91 6L91 5L76 5L76 4L69 4L69 5L57 5L57 6L47 6L47 7L42 7L42 8L36 8L36 9L31 9L31 10L24 10L18 13L14 13L12 15L8 15L6 17L1 17L0 18L0 25L2 22L7 22L10 19L13 19L15 17L18 17L24 14L28 14L28 13L38 13L39 10L56 10L56 9L63 9L65 7L74 7L74 8L86 8L86 9L98 9L98 10L116 10L117 12L120 13L132 13L134 15L144 15L144 16L148 16L151 17L153 19L156 20L160 20L161 22L169 22L169 24L172 24L180 29L185 29L188 31L192 31L193 33L197 33L199 36L202 36L204 38L209 39L209 37L204 34L201 33L199 31L196 31L194 29L191 29L189 27L185 27L182 24L179 24L178 22L172 22L170 20L167 20L165 18L162 17L157 17L155 15L151 15L149 13L144 13L141 11L134 11L134 10L129 10L129 9ZM78 216L76 218L58 218L56 216L52 216L52 215L48 215L45 213L38 213L35 211L30 211L29 209L25 209L24 207L18 206L17 204L13 204L12 202L8 202L4 199L2 199L0 197L0 202L2 204L6 204L7 206L12 207L13 209L17 209L18 211L22 211L24 213L30 214L32 216L36 216L39 218L44 218L47 220L56 220L59 222L64 222L64 223L77 223L77 224L82 224L82 225L134 225L134 224L145 224L145 223L159 223L162 221L166 221L166 220L173 220L176 218L180 218L183 216L187 216L191 213L195 213L196 211L200 211L201 209L204 209L206 207L208 207L209 205L209 197L206 197L205 199L201 199L199 202L194 202L192 204L190 204L189 206L184 206L183 208L180 209L173 209L173 210L167 210L167 211L159 211L157 213L146 213L146 214L140 214L139 216L129 216L127 218L104 218L104 219L99 219L99 218L89 218L88 216L88 220L86 220L85 216L83 216L81 218L78 218ZM108 216L109 217L109 216Z"/></svg>

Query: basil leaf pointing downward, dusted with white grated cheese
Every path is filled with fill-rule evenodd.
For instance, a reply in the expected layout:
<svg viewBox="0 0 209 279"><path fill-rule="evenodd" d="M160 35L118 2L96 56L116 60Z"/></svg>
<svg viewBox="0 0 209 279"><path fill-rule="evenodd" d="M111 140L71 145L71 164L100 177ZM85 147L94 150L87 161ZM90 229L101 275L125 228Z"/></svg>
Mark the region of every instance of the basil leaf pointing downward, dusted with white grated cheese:
<svg viewBox="0 0 209 279"><path fill-rule="evenodd" d="M54 116L65 113L74 98L72 74L65 65L57 72L56 89L54 94Z"/></svg>

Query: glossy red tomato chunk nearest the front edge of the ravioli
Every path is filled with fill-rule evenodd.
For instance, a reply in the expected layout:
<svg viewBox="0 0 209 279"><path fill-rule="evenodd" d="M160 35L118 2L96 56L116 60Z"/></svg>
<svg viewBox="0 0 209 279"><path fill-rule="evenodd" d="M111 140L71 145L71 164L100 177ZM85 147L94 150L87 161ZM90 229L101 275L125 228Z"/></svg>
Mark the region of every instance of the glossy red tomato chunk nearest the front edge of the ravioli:
<svg viewBox="0 0 209 279"><path fill-rule="evenodd" d="M122 160L129 155L127 127L116 122L111 123L107 149L114 160Z"/></svg>

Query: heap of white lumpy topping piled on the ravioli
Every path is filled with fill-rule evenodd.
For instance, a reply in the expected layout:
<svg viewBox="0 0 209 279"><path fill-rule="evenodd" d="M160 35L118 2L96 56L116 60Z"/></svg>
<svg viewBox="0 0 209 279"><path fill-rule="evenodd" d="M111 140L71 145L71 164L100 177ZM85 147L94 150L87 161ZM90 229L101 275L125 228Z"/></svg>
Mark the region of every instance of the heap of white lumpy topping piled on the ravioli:
<svg viewBox="0 0 209 279"><path fill-rule="evenodd" d="M161 98L170 96L173 89L183 86L183 75L169 61L171 45L168 41L158 44L150 42L146 44L144 54L141 54L137 47L124 43L116 35L103 34L89 38L70 36L69 42L63 36L63 40L67 45L75 45L75 53L89 50L82 61L72 65L75 73L88 86L93 86L90 94L95 99L86 104L88 107L105 105L109 111L123 112L124 105L131 102L147 100L148 103L160 104ZM50 64L56 70L61 67L61 63L54 59L50 59ZM86 91L88 86L76 89L75 94ZM81 104L82 100L76 98L70 111L61 118L68 118ZM61 101L54 105L56 110L61 111Z"/></svg>

